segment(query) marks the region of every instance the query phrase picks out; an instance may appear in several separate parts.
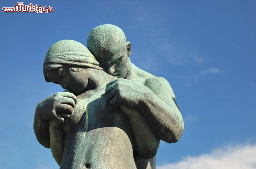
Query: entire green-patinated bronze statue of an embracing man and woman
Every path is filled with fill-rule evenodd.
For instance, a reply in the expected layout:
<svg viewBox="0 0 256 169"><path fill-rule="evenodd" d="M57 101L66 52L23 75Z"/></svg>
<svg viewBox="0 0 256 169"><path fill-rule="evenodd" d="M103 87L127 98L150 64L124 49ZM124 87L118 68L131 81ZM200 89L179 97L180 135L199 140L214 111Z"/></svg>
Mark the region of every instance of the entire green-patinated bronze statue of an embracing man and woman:
<svg viewBox="0 0 256 169"><path fill-rule="evenodd" d="M170 84L130 62L114 25L94 28L87 46L63 40L48 50L46 81L66 91L38 104L38 141L63 169L155 168L160 139L176 142L184 128Z"/></svg>

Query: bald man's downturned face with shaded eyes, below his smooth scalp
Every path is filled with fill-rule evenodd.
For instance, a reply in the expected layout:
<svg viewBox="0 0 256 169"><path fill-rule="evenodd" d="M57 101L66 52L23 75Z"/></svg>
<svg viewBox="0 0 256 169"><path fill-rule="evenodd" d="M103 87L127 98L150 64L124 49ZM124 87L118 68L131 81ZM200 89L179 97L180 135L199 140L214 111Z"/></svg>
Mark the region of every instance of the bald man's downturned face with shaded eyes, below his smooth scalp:
<svg viewBox="0 0 256 169"><path fill-rule="evenodd" d="M124 78L129 71L129 58L126 48L120 48L117 52L102 52L99 54L101 63L107 74Z"/></svg>

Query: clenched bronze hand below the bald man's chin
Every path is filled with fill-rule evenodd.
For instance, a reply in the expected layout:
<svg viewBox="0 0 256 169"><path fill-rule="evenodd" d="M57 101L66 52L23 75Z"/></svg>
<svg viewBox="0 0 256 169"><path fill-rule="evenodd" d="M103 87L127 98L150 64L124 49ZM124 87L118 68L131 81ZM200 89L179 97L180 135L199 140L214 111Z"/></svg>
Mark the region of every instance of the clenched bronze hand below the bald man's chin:
<svg viewBox="0 0 256 169"><path fill-rule="evenodd" d="M114 107L128 106L136 108L150 89L142 83L117 78L107 84L106 97Z"/></svg>

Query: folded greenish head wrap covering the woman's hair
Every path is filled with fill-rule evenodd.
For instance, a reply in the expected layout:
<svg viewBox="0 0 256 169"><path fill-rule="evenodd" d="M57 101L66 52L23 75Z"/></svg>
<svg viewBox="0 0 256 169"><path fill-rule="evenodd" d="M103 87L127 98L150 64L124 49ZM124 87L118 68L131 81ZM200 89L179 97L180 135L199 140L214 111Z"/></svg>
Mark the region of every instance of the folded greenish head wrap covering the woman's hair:
<svg viewBox="0 0 256 169"><path fill-rule="evenodd" d="M60 68L63 65L103 70L89 49L74 40L61 40L49 48L43 64L43 73L46 81L48 81L46 70Z"/></svg>

